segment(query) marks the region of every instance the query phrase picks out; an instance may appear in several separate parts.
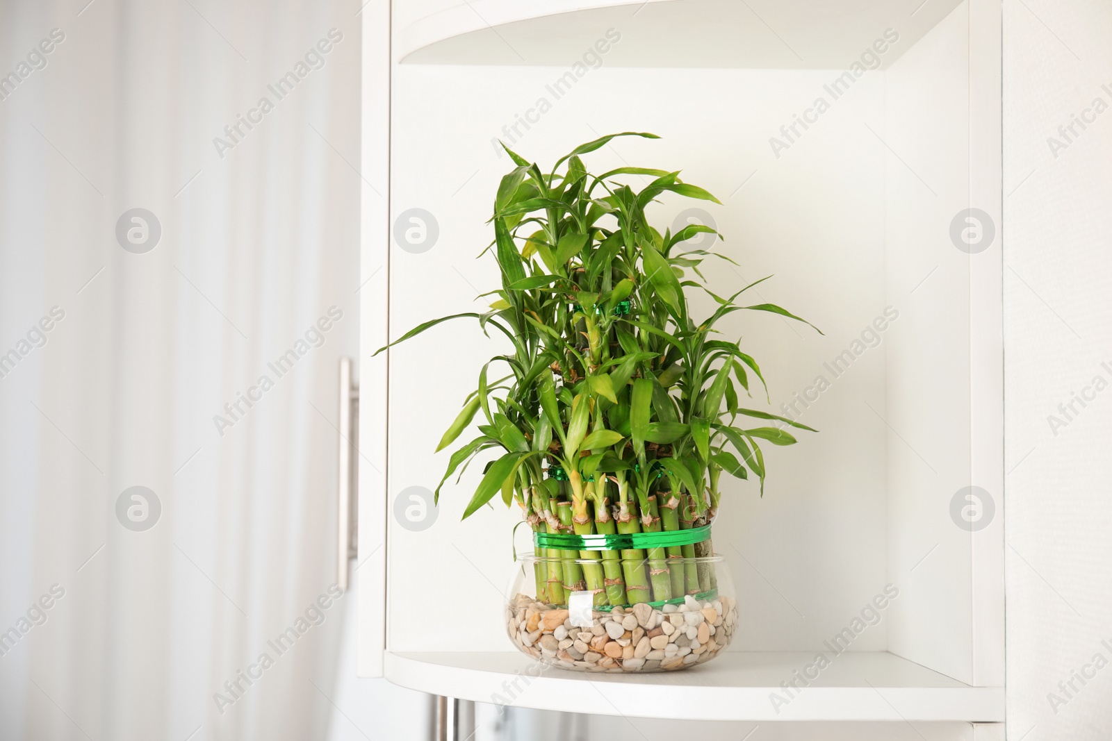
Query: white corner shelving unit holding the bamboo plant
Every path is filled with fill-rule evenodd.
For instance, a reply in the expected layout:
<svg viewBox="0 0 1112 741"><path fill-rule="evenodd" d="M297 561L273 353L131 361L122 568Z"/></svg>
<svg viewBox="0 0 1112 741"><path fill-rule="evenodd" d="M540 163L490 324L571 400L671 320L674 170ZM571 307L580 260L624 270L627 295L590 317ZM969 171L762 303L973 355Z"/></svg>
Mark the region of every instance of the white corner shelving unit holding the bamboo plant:
<svg viewBox="0 0 1112 741"><path fill-rule="evenodd" d="M952 238L965 209L1000 223L1000 3L426 0L391 17L374 0L364 13L360 671L486 702L528 677L514 704L603 714L1003 721L1001 236L972 251ZM498 340L460 322L370 354L485 308L496 268L473 258L512 167L496 139L544 167L623 130L663 139L617 140L588 168L682 168L723 201L701 208L741 263L712 283L774 273L759 298L825 332L727 328L765 369L770 411L822 432L767 451L763 499L727 491L714 542L742 614L729 653L668 674L533 678L503 632L515 514L459 522L481 467L445 485L430 528L396 517L404 489L439 481L435 442ZM664 199L655 216L691 206ZM393 234L415 208L438 226L423 252ZM970 485L993 498L973 531L952 514ZM887 584L900 597L851 649L774 703Z"/></svg>

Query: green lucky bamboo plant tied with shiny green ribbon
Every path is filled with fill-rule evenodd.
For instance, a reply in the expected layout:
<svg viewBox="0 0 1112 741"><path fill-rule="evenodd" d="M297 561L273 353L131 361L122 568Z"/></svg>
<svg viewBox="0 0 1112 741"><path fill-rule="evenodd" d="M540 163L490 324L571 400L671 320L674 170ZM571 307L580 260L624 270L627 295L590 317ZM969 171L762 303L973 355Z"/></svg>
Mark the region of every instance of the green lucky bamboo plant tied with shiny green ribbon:
<svg viewBox="0 0 1112 741"><path fill-rule="evenodd" d="M461 475L480 453L498 451L464 518L500 494L507 505L516 501L538 532L698 527L718 508L724 471L739 479L752 473L763 495L758 440L796 442L780 427L748 427L744 420L812 430L739 404L738 388L748 397L751 379L767 397L765 379L756 360L716 330L735 311L805 320L772 303L739 301L761 281L729 298L715 294L699 267L707 258L729 258L685 251L684 243L717 232L691 224L662 234L646 216L665 193L717 199L683 182L678 172L586 170L580 156L628 136L656 138L602 137L548 172L506 148L516 167L498 186L490 218L495 239L484 250L494 252L502 274L502 287L485 294L493 299L489 310L425 322L391 343L458 318L476 319L485 332L494 328L509 340L510 349L479 370L476 390L437 445L440 451L455 442L481 410L479 434L451 454L436 489L438 499L449 477ZM631 179L651 180L636 190ZM688 290L712 297L715 311L696 322ZM492 368L506 374L492 379ZM713 574L679 559L707 547L553 551L558 558L537 567L537 597L560 604L568 592L586 589L596 604L618 605L699 593L713 587Z"/></svg>

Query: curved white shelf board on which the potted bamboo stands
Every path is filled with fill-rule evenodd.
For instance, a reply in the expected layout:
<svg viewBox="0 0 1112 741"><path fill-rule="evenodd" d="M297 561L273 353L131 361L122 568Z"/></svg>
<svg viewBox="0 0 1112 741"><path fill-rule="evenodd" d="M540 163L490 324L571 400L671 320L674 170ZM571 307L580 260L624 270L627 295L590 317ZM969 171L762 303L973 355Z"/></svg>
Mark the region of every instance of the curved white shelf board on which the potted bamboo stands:
<svg viewBox="0 0 1112 741"><path fill-rule="evenodd" d="M814 658L814 652L729 652L696 669L623 675L552 667L538 672L536 662L509 651L388 652L385 668L386 678L395 684L431 694L602 715L717 721L1004 720L1004 688L970 687L888 652L834 657L810 687L787 704L774 707L770 695L784 695L781 683Z"/></svg>

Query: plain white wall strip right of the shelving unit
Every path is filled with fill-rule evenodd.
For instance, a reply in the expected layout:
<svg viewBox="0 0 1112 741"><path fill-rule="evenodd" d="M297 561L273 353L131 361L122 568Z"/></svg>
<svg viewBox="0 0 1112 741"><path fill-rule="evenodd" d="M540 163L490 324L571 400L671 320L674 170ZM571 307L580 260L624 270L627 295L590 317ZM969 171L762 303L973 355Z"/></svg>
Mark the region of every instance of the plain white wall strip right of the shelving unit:
<svg viewBox="0 0 1112 741"><path fill-rule="evenodd" d="M1104 739L1112 669L1112 93L1106 2L1005 3L1007 738ZM1092 116L1090 114L1090 118ZM1049 139L1066 144L1051 151ZM1110 363L1112 364L1112 363ZM1102 387L1103 388L1103 387ZM1050 415L1066 422L1051 429ZM1054 702L1054 693L1066 704ZM1066 694L1069 692L1069 697Z"/></svg>

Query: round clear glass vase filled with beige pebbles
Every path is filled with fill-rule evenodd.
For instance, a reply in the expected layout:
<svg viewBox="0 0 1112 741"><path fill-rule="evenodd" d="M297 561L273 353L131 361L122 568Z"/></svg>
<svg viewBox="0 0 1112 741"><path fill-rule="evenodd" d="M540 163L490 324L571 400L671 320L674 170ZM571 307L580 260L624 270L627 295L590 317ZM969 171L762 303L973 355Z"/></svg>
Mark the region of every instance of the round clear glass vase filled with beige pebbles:
<svg viewBox="0 0 1112 741"><path fill-rule="evenodd" d="M604 593L564 588L566 578L574 580L584 569L603 568L602 559L576 555L518 554L505 618L509 639L523 653L572 671L644 673L697 667L733 640L737 600L723 557L668 559L667 568L697 578L693 583L701 591L612 605ZM559 584L562 599L556 602L546 597L549 580ZM651 590L646 592L634 598L652 597Z"/></svg>

